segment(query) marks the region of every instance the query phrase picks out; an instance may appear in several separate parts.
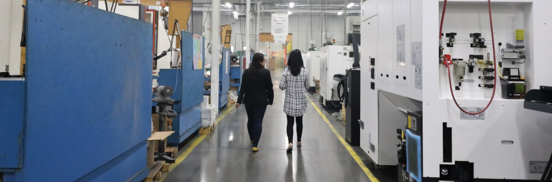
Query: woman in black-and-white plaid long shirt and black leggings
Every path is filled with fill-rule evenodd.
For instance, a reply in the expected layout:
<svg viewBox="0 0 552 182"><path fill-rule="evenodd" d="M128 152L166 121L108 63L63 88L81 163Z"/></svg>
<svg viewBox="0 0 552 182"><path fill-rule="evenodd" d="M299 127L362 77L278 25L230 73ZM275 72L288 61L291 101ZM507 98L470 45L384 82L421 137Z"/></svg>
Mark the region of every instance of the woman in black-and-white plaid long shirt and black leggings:
<svg viewBox="0 0 552 182"><path fill-rule="evenodd" d="M288 66L284 69L280 89L285 90L284 113L288 116L287 152L293 149L293 122L297 122L297 147L301 147L303 131L303 114L307 109L306 90L309 89L309 72L303 66L301 51L296 49L289 53Z"/></svg>

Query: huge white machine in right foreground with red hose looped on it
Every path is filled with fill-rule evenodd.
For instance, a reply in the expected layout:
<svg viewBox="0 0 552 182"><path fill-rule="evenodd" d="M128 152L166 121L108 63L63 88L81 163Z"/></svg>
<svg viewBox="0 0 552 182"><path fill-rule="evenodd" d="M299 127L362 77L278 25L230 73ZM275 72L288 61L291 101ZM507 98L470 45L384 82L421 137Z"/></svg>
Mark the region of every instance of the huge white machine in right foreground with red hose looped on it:
<svg viewBox="0 0 552 182"><path fill-rule="evenodd" d="M452 92L458 104L472 112L485 108L493 92L492 88L479 87L493 83L481 77L497 73L484 74L485 69L480 69L493 67L485 65L487 53L490 61L494 60L487 5L485 0L449 0L443 23L444 55L450 55L455 64L474 58L477 62L473 72L468 66L450 65ZM526 80L525 92L540 85L552 86L550 7L549 0L491 2L496 62L502 62L501 73L505 72L503 68L519 69ZM360 147L375 164L396 165L396 143L400 143L396 131L408 126L408 112L418 111L423 118L417 124L423 131L421 149L408 151L410 162L416 160L412 157L421 157L417 179L447 181L440 177L442 170L450 169L452 174L455 169L449 167L461 162L473 166L469 173L475 181L540 179L539 169L544 168L552 151L552 116L524 109L524 99L503 98L500 79L493 85L495 95L484 113L460 111L452 99L447 67L439 64L442 9L443 0L362 2L360 62L368 71L361 73L360 120L364 127ZM455 38L451 42L452 33ZM473 47L476 36L481 36L476 41L486 48ZM506 43L516 45L520 39L526 59L502 58L501 49L507 48ZM327 52L327 48L322 50ZM325 62L322 57L331 56L321 56L321 62ZM327 98L328 89L324 92Z"/></svg>

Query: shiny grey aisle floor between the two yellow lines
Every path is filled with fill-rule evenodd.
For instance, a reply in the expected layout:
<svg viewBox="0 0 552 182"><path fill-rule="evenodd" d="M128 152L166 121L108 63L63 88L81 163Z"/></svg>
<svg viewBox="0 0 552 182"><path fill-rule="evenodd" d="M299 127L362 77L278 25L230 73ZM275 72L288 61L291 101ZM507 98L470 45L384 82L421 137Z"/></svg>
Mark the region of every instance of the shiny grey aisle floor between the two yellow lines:
<svg viewBox="0 0 552 182"><path fill-rule="evenodd" d="M293 153L286 153L284 91L277 88L281 72L271 72L275 97L264 116L260 151L251 152L245 108L233 108L162 181L370 181L310 103L303 146L294 143Z"/></svg>

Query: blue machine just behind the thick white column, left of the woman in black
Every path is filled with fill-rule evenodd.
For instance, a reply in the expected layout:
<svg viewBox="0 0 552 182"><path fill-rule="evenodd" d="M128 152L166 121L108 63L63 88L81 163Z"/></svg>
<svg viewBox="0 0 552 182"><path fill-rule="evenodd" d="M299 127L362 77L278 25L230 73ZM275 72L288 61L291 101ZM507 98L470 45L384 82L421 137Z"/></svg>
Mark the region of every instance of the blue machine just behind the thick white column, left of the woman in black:
<svg viewBox="0 0 552 182"><path fill-rule="evenodd" d="M205 77L204 81L210 82L211 77ZM219 65L219 113L228 103L228 90L230 90L230 49L222 47L222 63ZM211 91L205 90L204 95L211 95Z"/></svg>

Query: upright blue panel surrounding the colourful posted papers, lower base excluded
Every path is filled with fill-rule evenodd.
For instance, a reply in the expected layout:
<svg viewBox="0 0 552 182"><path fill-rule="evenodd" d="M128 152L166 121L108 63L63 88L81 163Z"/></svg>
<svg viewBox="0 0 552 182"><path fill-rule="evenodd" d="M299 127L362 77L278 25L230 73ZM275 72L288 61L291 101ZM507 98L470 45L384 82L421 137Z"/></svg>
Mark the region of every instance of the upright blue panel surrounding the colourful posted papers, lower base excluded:
<svg viewBox="0 0 552 182"><path fill-rule="evenodd" d="M194 69L193 34L182 31L182 105L181 112L203 102L204 69ZM185 47L185 48L184 48ZM205 57L205 56L204 56ZM202 66L203 67L203 66Z"/></svg>

